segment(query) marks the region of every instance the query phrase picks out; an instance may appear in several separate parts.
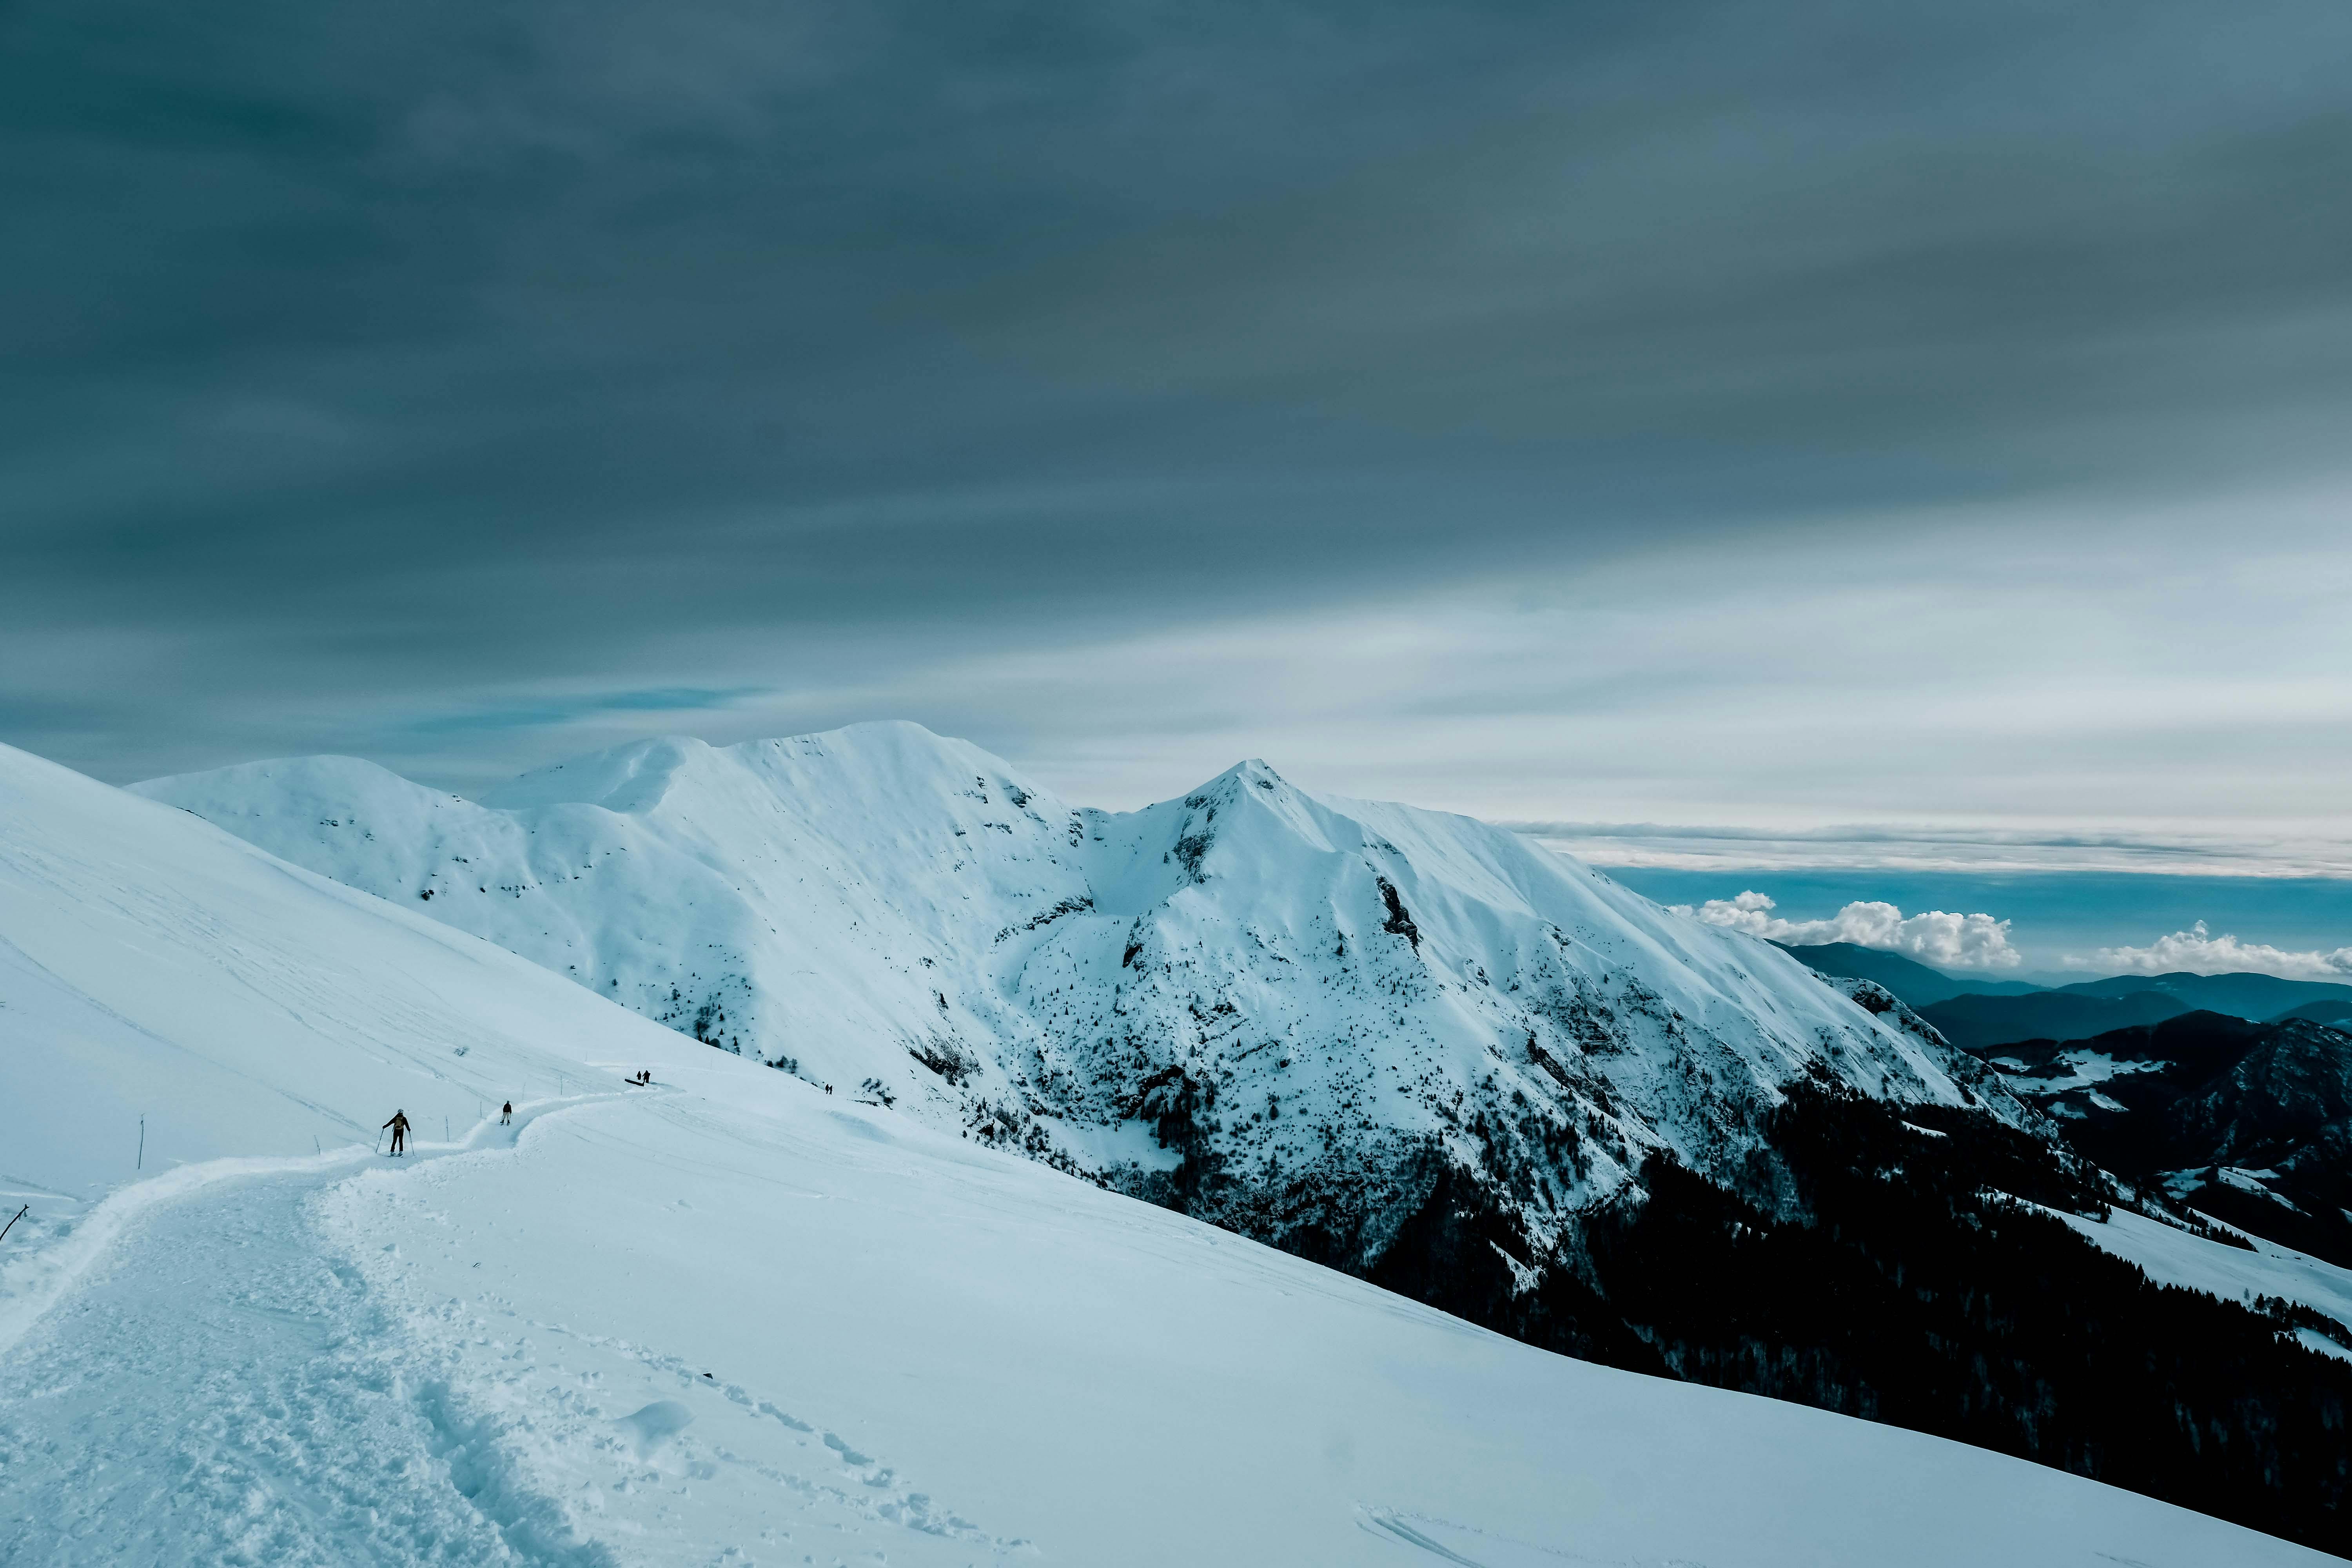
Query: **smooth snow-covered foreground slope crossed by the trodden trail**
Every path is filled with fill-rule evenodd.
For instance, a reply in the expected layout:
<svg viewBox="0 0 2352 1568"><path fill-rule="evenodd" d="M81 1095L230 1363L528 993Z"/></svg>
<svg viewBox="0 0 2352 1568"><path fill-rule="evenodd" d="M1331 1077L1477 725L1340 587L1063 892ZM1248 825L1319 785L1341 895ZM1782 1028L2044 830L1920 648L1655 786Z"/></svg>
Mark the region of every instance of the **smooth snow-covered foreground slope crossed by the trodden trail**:
<svg viewBox="0 0 2352 1568"><path fill-rule="evenodd" d="M1468 1328L5 748L0 952L0 1561L2326 1561Z"/></svg>

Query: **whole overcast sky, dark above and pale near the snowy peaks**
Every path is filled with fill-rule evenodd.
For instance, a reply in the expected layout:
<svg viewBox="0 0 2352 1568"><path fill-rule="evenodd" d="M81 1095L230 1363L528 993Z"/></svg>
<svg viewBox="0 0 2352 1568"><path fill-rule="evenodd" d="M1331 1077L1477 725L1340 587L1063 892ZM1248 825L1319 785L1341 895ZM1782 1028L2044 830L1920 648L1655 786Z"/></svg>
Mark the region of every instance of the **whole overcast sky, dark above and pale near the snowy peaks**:
<svg viewBox="0 0 2352 1568"><path fill-rule="evenodd" d="M2347 82L2340 0L16 0L0 738L2352 870Z"/></svg>

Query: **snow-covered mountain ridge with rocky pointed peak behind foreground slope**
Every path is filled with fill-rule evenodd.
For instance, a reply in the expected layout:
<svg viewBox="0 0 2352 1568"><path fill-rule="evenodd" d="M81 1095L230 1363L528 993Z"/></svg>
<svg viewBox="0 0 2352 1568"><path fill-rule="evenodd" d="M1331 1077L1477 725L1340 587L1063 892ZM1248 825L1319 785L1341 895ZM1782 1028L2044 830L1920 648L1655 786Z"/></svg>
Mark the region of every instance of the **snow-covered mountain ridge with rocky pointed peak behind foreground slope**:
<svg viewBox="0 0 2352 1568"><path fill-rule="evenodd" d="M1738 1159L1795 1079L2025 1114L1877 987L1263 762L1134 813L915 724L647 741L480 804L348 757L136 790L727 1051L1348 1267L1446 1171L1543 1251L1651 1150Z"/></svg>

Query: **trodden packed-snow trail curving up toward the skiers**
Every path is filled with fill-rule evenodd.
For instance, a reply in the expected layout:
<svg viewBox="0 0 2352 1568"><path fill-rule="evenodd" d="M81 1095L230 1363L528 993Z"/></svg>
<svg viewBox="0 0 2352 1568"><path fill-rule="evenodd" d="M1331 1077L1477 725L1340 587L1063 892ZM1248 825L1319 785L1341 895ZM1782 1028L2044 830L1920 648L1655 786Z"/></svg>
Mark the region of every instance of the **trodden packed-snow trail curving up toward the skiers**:
<svg viewBox="0 0 2352 1568"><path fill-rule="evenodd" d="M353 1168L513 1147L543 1110L143 1204L0 1356L0 1561L614 1563L416 1378L308 1213Z"/></svg>

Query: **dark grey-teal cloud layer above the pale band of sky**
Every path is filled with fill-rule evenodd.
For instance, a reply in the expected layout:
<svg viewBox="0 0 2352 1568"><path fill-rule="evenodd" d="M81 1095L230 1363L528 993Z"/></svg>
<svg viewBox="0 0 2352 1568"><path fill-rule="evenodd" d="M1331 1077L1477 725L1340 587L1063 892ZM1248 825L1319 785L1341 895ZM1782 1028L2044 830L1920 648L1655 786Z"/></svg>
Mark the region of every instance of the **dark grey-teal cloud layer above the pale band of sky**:
<svg viewBox="0 0 2352 1568"><path fill-rule="evenodd" d="M19 2L0 717L118 778L520 757L637 691L2307 470L2347 16Z"/></svg>

